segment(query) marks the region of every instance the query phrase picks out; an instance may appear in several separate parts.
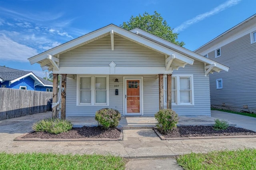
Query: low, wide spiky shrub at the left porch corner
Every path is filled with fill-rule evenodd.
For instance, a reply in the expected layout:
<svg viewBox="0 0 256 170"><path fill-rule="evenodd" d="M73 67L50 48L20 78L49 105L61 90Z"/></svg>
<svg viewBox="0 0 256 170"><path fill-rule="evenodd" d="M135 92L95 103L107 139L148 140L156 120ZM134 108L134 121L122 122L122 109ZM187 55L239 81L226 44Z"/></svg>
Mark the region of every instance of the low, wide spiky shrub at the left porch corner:
<svg viewBox="0 0 256 170"><path fill-rule="evenodd" d="M36 132L48 132L52 134L59 134L67 132L72 129L72 123L67 120L48 118L38 121L32 125Z"/></svg>

